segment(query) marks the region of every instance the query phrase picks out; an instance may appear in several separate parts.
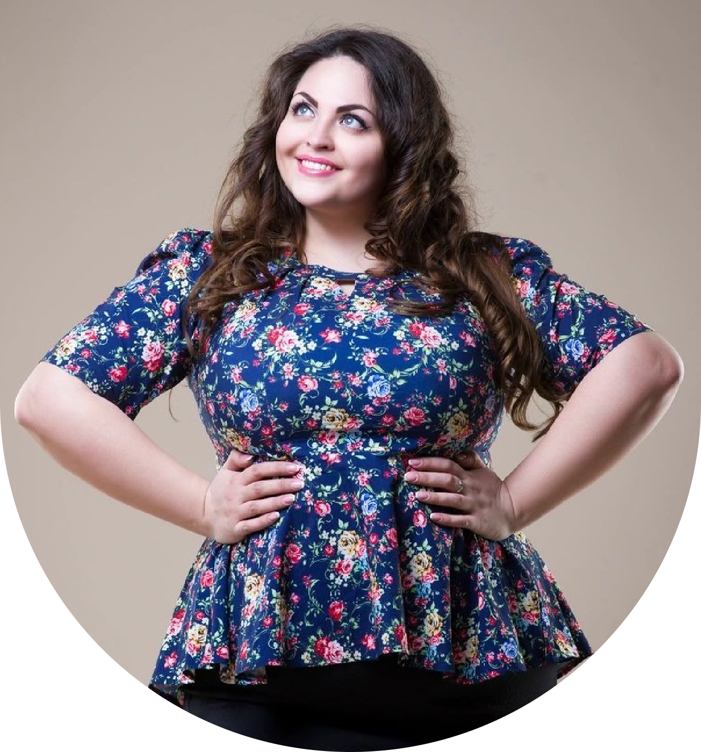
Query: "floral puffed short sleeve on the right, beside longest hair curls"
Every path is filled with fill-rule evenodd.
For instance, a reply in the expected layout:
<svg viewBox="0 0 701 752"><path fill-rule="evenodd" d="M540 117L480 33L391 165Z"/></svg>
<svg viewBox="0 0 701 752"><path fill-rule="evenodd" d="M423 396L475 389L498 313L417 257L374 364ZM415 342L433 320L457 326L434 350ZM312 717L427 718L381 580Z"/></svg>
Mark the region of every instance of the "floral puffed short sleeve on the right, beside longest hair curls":
<svg viewBox="0 0 701 752"><path fill-rule="evenodd" d="M566 274L525 238L504 238L517 295L543 343L551 382L558 393L573 390L621 342L653 331L634 314Z"/></svg>

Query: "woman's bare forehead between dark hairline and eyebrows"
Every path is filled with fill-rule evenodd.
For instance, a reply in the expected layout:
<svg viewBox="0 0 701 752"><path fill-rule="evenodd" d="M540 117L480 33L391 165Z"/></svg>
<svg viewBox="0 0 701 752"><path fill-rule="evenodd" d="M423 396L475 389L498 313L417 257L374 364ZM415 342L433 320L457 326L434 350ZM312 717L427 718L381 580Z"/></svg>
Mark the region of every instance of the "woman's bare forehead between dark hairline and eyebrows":
<svg viewBox="0 0 701 752"><path fill-rule="evenodd" d="M329 105L372 102L370 75L363 65L350 57L318 60L302 74L295 92L304 91Z"/></svg>

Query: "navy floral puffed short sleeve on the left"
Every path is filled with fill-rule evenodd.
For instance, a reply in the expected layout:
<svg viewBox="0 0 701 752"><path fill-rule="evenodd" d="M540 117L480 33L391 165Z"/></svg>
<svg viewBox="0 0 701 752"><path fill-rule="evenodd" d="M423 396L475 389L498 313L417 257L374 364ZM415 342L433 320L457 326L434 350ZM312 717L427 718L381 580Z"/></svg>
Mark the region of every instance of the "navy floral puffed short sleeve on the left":
<svg viewBox="0 0 701 752"><path fill-rule="evenodd" d="M73 374L133 420L188 374L184 305L210 261L211 232L172 232L144 256L131 280L115 287L41 361ZM187 331L196 338L193 317Z"/></svg>

